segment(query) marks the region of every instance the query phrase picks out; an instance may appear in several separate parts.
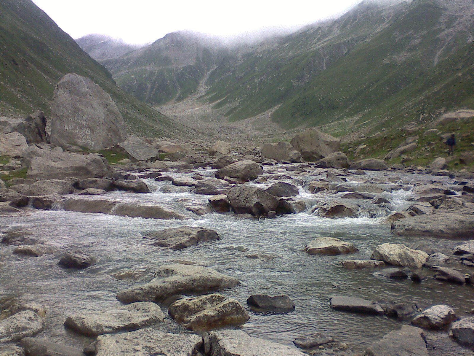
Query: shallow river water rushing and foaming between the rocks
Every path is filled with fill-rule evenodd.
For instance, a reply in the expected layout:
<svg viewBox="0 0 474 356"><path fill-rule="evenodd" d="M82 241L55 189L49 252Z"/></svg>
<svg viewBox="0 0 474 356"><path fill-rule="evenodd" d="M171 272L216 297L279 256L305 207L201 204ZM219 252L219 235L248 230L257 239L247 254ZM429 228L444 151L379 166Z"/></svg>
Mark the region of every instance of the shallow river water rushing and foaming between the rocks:
<svg viewBox="0 0 474 356"><path fill-rule="evenodd" d="M284 173L283 167L267 168ZM212 170L196 170L212 176ZM288 172L286 172L288 173ZM118 305L115 295L119 290L144 284L151 280L153 272L164 263L193 261L212 267L219 272L234 276L241 281L235 288L222 291L239 300L245 308L251 294L287 294L296 304L288 314L257 314L249 311L250 320L241 326L249 334L264 337L284 344L292 344L295 337L322 332L362 350L374 340L388 332L399 329L408 322L400 322L385 316L365 316L335 311L329 308L331 295L356 296L369 300L391 300L394 302L418 302L426 306L448 304L458 316L466 316L474 307L474 288L435 281L428 278L420 284L410 280L389 280L373 275L373 270L346 270L340 264L345 259L370 259L374 247L391 242L408 246L426 241L437 252L451 256L450 250L462 241L437 238L408 238L390 234L390 225L383 224L383 217L326 219L311 214L311 206L317 200L340 197L344 193L328 196L313 195L304 188L304 182L314 180L313 175L298 175L294 182L301 186L299 199L308 206L300 214L284 215L276 219L243 219L232 214L207 214L197 216L184 208L183 200L206 202L209 196L195 195L183 188L182 193L162 193L170 182L155 182L146 179L154 190L150 194L111 192L102 197L111 200L136 201L157 205L187 216L186 221L167 221L128 218L102 214L76 212L31 211L18 217L1 217L2 230L28 228L35 236L55 247L57 253L37 258L13 254L15 246L0 247L0 296L21 295L22 300L36 301L47 308L45 331L41 337L69 345L82 346L87 340L64 329L66 317L82 311L100 310ZM191 175L164 173L173 177ZM392 182L399 190L384 192L379 196L388 198L393 210L410 204L412 185L426 184L431 180L444 184L453 183L443 177L408 175L396 173L372 173L370 176L350 176L345 184L355 185L362 180ZM287 181L291 181L287 180ZM269 180L263 186L273 183ZM254 183L252 183L254 184ZM401 184L401 185L400 185ZM412 183L413 184L413 183ZM397 186L398 185L398 186ZM359 204L367 204L357 201ZM149 245L143 235L168 227L181 225L203 226L216 230L220 241L191 246L181 251L171 251ZM352 242L359 252L340 256L311 256L302 251L310 240L320 236L337 237ZM69 271L56 264L65 250L82 250L97 258L97 262L84 271ZM256 254L260 258L248 258ZM453 258L457 266L457 260ZM148 272L138 281L119 281L111 276L121 269L143 269ZM467 268L464 272L469 272ZM165 306L164 306L165 307ZM165 311L165 309L164 309ZM184 332L170 318L157 328ZM428 333L436 339L446 339L446 331ZM448 345L447 349L444 349ZM448 341L445 346L431 350L432 356L470 354Z"/></svg>

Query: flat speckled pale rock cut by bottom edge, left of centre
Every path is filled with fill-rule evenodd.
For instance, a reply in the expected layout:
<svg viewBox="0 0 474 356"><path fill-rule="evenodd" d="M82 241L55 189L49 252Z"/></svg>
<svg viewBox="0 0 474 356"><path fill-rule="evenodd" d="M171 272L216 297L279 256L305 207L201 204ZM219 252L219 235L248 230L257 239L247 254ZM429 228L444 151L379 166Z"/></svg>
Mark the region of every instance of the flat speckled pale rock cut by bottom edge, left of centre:
<svg viewBox="0 0 474 356"><path fill-rule="evenodd" d="M152 328L97 337L96 356L196 355L202 337L164 333Z"/></svg>

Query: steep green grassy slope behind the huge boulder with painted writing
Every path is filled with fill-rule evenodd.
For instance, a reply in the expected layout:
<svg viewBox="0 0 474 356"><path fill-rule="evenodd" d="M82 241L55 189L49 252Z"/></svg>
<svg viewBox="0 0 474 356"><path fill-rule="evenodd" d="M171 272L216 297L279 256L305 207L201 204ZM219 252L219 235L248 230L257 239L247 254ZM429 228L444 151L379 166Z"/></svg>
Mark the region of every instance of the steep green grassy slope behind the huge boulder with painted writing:
<svg viewBox="0 0 474 356"><path fill-rule="evenodd" d="M49 114L55 84L67 73L91 78L107 91L130 132L176 135L182 127L121 90L107 70L88 56L30 0L0 2L0 114Z"/></svg>

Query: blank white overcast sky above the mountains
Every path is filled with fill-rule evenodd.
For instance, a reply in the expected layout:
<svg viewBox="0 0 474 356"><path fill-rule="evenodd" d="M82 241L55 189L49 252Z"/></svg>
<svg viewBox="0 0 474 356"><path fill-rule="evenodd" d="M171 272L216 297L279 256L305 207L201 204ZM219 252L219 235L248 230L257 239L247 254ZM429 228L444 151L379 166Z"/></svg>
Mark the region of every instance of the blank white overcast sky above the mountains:
<svg viewBox="0 0 474 356"><path fill-rule="evenodd" d="M217 36L296 29L362 0L33 0L73 38L99 33L128 43L190 29Z"/></svg>

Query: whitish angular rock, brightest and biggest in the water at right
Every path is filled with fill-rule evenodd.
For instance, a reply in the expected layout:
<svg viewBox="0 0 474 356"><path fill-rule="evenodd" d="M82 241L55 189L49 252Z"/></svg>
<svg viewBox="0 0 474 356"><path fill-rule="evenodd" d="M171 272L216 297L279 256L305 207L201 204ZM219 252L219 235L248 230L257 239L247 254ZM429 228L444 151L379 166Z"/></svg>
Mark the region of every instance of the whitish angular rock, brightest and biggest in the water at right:
<svg viewBox="0 0 474 356"><path fill-rule="evenodd" d="M428 254L412 250L404 244L381 244L375 247L371 259L384 261L394 266L421 268L428 261Z"/></svg>

